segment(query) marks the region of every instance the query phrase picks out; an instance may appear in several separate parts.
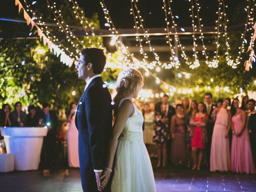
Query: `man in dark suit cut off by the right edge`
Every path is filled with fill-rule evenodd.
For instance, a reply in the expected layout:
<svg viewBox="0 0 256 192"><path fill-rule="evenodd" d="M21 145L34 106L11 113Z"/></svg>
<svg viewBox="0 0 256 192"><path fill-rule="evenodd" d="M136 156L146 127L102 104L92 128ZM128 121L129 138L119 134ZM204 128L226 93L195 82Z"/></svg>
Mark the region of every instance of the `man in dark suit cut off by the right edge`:
<svg viewBox="0 0 256 192"><path fill-rule="evenodd" d="M256 101L253 99L248 101L248 108L251 111L248 121L249 136L252 148L252 157L254 159L254 165L256 165L256 111L254 110Z"/></svg>

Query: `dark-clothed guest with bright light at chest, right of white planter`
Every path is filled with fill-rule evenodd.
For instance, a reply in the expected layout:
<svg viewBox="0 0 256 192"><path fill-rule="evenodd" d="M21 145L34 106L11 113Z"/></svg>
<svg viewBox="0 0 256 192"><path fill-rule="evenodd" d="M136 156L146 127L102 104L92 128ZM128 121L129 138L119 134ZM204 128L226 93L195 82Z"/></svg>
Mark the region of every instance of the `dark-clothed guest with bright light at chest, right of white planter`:
<svg viewBox="0 0 256 192"><path fill-rule="evenodd" d="M47 136L44 137L41 164L43 168L49 168L56 160L55 149L58 118L56 113L50 110L48 103L43 103L43 111L39 114L39 123L40 126L47 126L48 128Z"/></svg>

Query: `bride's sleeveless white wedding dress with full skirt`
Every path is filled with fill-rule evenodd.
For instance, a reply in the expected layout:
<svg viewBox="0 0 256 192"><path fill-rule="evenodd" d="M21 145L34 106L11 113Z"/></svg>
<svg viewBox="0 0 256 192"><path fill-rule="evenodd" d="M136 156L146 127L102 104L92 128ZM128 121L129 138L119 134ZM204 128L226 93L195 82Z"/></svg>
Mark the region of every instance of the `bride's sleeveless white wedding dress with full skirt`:
<svg viewBox="0 0 256 192"><path fill-rule="evenodd" d="M128 98L120 100L118 107ZM133 104L134 105L134 104ZM156 192L152 165L143 142L143 116L134 105L116 149L112 192Z"/></svg>

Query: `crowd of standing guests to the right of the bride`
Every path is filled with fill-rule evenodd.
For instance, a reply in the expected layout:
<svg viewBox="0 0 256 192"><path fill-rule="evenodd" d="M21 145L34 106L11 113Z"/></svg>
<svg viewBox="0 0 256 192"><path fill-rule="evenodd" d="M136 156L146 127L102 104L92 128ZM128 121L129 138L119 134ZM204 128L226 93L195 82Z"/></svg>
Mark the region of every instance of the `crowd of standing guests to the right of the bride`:
<svg viewBox="0 0 256 192"><path fill-rule="evenodd" d="M255 173L256 101L244 96L218 99L206 93L204 102L183 98L175 108L168 102L141 106L143 136L148 146L156 144L158 164L184 164L200 170L203 154L211 171Z"/></svg>

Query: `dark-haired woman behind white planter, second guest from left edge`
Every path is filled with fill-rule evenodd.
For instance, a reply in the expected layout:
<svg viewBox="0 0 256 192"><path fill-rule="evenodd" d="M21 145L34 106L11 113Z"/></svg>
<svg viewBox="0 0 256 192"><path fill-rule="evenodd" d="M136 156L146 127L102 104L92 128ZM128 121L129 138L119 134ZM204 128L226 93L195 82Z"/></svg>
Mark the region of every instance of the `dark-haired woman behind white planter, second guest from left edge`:
<svg viewBox="0 0 256 192"><path fill-rule="evenodd" d="M13 127L24 127L26 125L27 114L21 110L21 102L16 102L14 111L11 113L11 121Z"/></svg>

